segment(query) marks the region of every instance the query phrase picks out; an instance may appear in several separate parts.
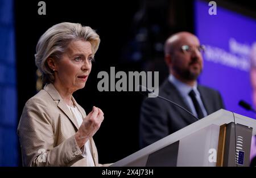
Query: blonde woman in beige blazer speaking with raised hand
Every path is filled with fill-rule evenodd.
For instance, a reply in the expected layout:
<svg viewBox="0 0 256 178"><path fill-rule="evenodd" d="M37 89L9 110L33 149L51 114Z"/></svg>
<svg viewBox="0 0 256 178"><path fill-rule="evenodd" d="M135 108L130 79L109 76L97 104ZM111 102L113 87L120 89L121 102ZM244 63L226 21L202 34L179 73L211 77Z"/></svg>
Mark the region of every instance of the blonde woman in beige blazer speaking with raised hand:
<svg viewBox="0 0 256 178"><path fill-rule="evenodd" d="M86 115L72 96L85 87L99 44L97 33L79 23L56 24L40 37L35 63L45 86L20 117L23 166L102 166L92 137L104 113L93 107Z"/></svg>

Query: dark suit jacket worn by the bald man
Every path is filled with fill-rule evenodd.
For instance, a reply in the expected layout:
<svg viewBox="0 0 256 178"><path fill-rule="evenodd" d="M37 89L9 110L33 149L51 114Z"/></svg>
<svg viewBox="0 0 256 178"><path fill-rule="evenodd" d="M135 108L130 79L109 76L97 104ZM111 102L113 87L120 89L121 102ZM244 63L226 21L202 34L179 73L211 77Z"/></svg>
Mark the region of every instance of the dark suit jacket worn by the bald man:
<svg viewBox="0 0 256 178"><path fill-rule="evenodd" d="M208 115L225 108L218 91L200 85L197 88ZM159 95L174 101L191 112L180 92L168 79L160 86ZM139 124L140 146L143 148L150 145L195 121L196 118L168 101L160 98L146 98L141 108Z"/></svg>

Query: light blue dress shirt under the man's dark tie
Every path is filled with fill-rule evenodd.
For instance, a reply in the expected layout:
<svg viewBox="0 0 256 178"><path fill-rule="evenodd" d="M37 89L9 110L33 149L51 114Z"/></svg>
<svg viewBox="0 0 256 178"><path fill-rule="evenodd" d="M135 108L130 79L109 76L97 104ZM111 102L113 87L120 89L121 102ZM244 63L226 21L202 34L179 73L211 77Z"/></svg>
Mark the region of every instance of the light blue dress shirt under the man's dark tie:
<svg viewBox="0 0 256 178"><path fill-rule="evenodd" d="M174 84L174 86L177 88L177 90L180 92L181 97L183 98L183 100L185 101L185 103L188 105L188 107L191 109L191 112L193 113L193 115L197 116L196 113L196 109L194 107L193 101L190 98L190 96L188 95L189 92L193 89L196 93L196 99L201 107L201 110L204 114L204 117L207 116L207 111L204 107L203 101L200 98L200 92L197 90L197 82L196 84L191 87L183 82L181 82L180 80L176 79L174 77L174 75L169 75L168 80ZM197 116L198 117L198 116Z"/></svg>

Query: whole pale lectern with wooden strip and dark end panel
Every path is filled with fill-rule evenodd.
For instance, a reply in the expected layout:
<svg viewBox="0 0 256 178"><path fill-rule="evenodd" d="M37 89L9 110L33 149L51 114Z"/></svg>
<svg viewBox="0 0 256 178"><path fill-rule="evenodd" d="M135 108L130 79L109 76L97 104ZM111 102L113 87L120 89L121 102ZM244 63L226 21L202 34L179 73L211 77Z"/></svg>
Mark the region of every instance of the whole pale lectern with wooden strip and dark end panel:
<svg viewBox="0 0 256 178"><path fill-rule="evenodd" d="M255 134L256 120L220 109L112 166L249 166Z"/></svg>

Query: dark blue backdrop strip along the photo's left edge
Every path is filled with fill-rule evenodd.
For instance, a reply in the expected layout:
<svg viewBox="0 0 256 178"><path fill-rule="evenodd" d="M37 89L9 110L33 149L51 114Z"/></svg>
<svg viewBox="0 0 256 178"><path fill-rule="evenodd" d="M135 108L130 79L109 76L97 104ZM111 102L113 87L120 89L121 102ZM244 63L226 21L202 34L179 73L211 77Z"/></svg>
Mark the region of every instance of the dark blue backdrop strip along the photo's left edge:
<svg viewBox="0 0 256 178"><path fill-rule="evenodd" d="M14 1L0 0L0 166L18 165Z"/></svg>

